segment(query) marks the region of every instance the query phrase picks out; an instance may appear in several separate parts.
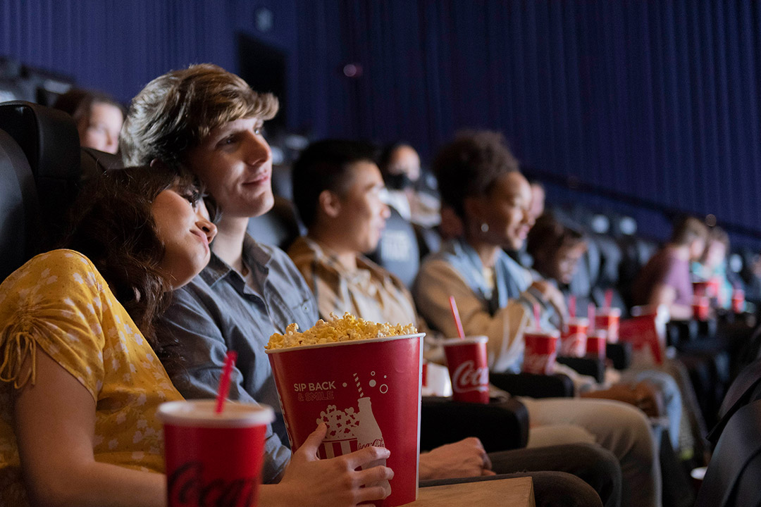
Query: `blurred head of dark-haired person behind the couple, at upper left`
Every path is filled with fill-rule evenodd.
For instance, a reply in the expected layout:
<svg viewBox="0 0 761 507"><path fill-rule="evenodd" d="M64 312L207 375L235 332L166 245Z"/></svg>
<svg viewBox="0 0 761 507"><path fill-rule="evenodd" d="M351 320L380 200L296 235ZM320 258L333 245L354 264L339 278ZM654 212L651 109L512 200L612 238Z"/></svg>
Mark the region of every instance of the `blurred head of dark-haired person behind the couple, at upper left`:
<svg viewBox="0 0 761 507"><path fill-rule="evenodd" d="M119 151L124 109L112 97L100 91L75 88L58 97L53 107L72 116L82 147L111 154Z"/></svg>

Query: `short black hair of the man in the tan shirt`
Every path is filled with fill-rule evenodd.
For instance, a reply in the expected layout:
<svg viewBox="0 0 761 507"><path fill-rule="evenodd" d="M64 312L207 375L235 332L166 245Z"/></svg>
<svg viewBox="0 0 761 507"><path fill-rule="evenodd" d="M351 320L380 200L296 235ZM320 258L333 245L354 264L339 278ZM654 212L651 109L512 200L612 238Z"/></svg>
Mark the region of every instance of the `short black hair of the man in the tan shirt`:
<svg viewBox="0 0 761 507"><path fill-rule="evenodd" d="M371 144L345 139L326 139L310 144L293 164L293 201L304 226L317 218L320 194L330 190L342 195L349 188L349 167L357 162L377 160Z"/></svg>

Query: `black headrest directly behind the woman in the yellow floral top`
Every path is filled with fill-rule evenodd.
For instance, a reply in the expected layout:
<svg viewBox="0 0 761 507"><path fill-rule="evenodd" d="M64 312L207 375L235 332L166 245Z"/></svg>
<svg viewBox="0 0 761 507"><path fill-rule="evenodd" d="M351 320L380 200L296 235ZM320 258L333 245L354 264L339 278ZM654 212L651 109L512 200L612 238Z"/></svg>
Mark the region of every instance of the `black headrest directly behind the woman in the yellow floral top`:
<svg viewBox="0 0 761 507"><path fill-rule="evenodd" d="M38 104L0 103L0 129L16 141L27 159L40 206L41 246L61 236L66 211L79 190L81 176L77 127L71 116Z"/></svg>

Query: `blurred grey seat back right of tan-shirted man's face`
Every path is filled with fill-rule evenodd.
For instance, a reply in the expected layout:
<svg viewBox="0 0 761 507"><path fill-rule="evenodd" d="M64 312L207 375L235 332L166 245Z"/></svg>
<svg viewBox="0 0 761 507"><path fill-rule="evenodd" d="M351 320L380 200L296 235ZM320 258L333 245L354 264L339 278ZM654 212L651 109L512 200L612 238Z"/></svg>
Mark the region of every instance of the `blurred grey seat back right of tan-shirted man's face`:
<svg viewBox="0 0 761 507"><path fill-rule="evenodd" d="M386 220L386 228L380 235L377 249L368 255L371 260L395 274L406 287L412 282L420 268L420 251L412 223L404 220L399 211L389 207L391 215Z"/></svg>

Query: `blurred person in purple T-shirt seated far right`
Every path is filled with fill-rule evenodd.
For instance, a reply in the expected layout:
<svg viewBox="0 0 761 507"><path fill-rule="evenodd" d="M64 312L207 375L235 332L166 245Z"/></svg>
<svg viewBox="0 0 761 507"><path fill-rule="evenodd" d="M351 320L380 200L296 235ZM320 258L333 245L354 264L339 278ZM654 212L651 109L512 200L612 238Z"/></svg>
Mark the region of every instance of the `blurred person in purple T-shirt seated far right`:
<svg viewBox="0 0 761 507"><path fill-rule="evenodd" d="M636 305L665 305L671 318L693 317L693 284L689 263L703 255L708 227L695 217L686 217L674 227L670 242L653 255L635 280Z"/></svg>

